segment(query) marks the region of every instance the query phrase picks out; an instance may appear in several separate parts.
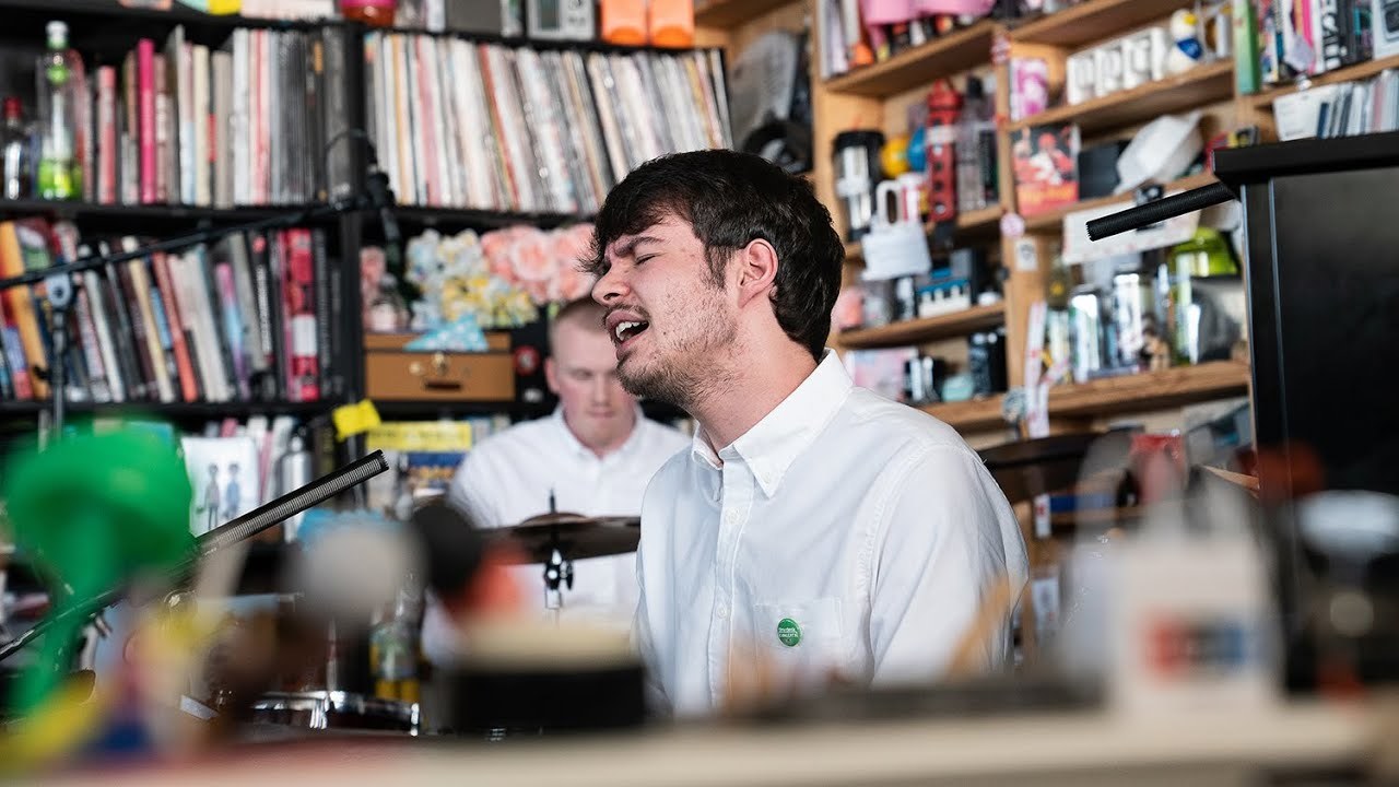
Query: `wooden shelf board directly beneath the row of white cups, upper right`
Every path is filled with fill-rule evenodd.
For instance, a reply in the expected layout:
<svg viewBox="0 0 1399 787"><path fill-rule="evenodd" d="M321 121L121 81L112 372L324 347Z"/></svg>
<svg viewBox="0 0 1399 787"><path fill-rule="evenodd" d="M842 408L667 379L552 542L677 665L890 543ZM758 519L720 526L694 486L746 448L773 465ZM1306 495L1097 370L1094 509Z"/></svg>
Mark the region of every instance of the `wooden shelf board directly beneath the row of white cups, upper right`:
<svg viewBox="0 0 1399 787"><path fill-rule="evenodd" d="M1020 130L1048 123L1079 123L1083 133L1130 126L1161 115L1193 109L1234 97L1234 62L1192 69L1178 77L1147 83L1074 105L1055 106L1010 125Z"/></svg>

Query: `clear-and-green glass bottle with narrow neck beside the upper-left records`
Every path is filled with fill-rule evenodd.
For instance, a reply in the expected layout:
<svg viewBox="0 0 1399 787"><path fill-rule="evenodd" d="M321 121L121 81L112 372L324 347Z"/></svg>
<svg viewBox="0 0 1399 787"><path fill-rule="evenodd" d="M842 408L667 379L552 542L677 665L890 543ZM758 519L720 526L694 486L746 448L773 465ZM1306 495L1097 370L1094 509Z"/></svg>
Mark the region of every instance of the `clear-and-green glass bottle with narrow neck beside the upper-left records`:
<svg viewBox="0 0 1399 787"><path fill-rule="evenodd" d="M83 169L77 155L78 74L69 55L69 25L49 22L48 50L39 62L39 196L77 199Z"/></svg>

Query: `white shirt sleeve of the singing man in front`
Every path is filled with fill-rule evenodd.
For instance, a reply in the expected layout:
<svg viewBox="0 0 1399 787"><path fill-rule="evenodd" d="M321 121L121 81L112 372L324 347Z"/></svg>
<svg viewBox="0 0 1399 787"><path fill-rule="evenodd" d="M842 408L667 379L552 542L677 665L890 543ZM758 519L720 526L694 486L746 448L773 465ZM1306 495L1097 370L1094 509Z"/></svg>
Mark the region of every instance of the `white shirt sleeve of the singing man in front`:
<svg viewBox="0 0 1399 787"><path fill-rule="evenodd" d="M997 583L1018 594L1024 541L1000 487L967 451L933 447L888 471L872 566L873 682L928 683L946 674ZM975 643L975 667L1006 662L1009 622L1007 612Z"/></svg>

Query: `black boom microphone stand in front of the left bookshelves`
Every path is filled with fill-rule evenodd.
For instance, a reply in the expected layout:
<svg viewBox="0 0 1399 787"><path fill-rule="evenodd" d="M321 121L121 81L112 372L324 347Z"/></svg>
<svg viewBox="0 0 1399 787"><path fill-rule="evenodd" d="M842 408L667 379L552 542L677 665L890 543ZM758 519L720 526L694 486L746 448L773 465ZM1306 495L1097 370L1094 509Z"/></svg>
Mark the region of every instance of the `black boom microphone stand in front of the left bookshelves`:
<svg viewBox="0 0 1399 787"><path fill-rule="evenodd" d="M43 283L45 295L52 311L53 329L50 333L50 357L48 368L49 381L49 395L52 398L52 413L53 413L53 429L59 438L63 438L63 416L64 416L64 398L66 398L66 372L64 363L69 351L69 308L73 305L73 281L71 276L74 273L83 273L87 270L106 267L109 265L116 265L120 262L127 262L133 259L143 259L157 252L176 251L189 246L197 246L200 244L208 244L218 241L227 235L235 234L259 234L269 230L285 230L291 227L298 227L302 224L315 224L325 218L340 216L344 213L362 213L369 210L379 211L381 218L385 221L386 245L395 246L400 239L397 235L397 224L393 221L393 189L389 186L389 176L379 169L378 155L375 154L374 143L369 141L368 136L358 129L348 129L341 132L337 139L330 140L326 144L329 151L340 139L355 137L358 139L367 150L368 155L368 176L365 179L365 189L350 197L316 204L302 210L281 213L267 218L260 218L256 221L248 221L243 224L228 224L222 227L206 227L197 230L187 235L179 235L175 238L168 238L164 241L157 241L144 245L139 249L125 251L118 253L106 253L88 256L85 259L78 259L74 262L67 262L63 265L55 265L43 270L29 270L10 279L0 279L0 293L11 288L21 287L27 284ZM62 203L55 203L62 204ZM36 358L29 358L31 368Z"/></svg>

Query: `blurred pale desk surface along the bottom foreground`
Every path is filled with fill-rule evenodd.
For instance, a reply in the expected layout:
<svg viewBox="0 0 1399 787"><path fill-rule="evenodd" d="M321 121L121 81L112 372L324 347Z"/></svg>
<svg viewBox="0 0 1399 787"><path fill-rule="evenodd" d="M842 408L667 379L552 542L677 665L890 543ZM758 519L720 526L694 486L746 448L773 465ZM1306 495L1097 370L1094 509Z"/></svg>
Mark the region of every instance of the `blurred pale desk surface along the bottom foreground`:
<svg viewBox="0 0 1399 787"><path fill-rule="evenodd" d="M880 786L926 783L1191 783L1259 770L1364 763L1379 749L1372 706L1129 720L1104 713L975 721L676 727L630 737L453 745L336 739L250 746L185 765L102 767L48 784ZM1226 776L1227 774L1227 776ZM1216 779L1207 779L1214 776ZM1101 779L1100 779L1101 777ZM1051 779L1051 781L1055 781ZM1237 781L1235 781L1237 783Z"/></svg>

